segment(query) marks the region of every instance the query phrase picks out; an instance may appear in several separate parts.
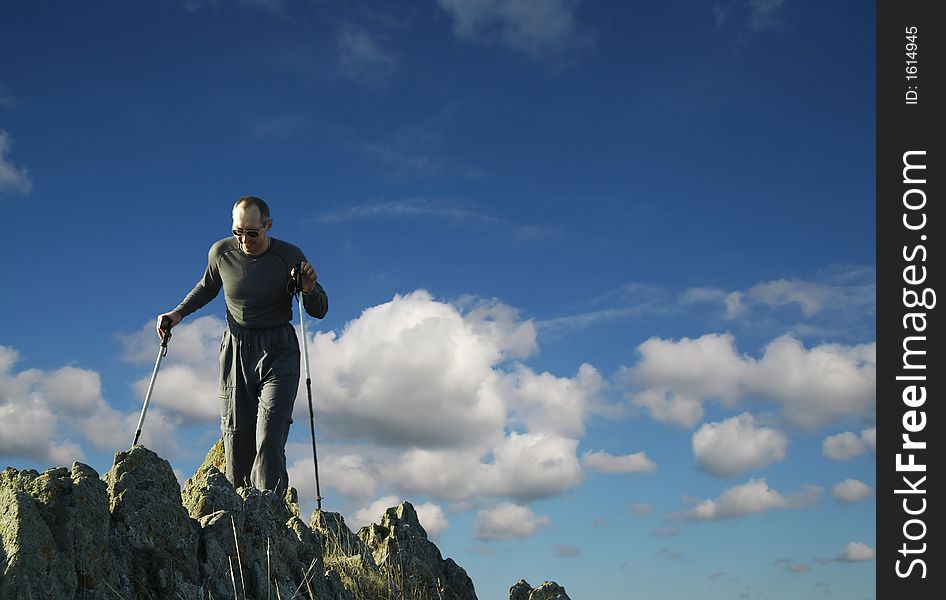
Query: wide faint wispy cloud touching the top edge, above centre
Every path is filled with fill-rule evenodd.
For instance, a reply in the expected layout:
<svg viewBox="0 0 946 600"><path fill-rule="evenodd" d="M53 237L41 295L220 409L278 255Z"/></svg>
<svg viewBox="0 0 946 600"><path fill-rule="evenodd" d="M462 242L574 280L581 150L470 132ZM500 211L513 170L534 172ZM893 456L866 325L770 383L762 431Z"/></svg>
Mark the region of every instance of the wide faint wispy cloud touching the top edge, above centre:
<svg viewBox="0 0 946 600"><path fill-rule="evenodd" d="M575 0L439 0L463 40L499 41L532 58L586 48L592 38L576 23Z"/></svg>

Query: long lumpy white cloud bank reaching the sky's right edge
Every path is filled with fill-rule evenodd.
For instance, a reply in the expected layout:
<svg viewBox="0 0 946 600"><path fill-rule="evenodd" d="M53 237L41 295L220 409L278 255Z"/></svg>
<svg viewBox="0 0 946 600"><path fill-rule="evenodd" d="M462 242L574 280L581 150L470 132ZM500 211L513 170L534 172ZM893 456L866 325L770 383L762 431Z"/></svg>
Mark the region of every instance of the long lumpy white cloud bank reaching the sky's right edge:
<svg viewBox="0 0 946 600"><path fill-rule="evenodd" d="M750 398L776 403L787 421L806 429L874 411L873 343L808 349L784 335L755 359L737 352L731 334L707 334L651 338L637 350L641 360L618 378L631 388L632 404L660 421L693 427L703 402L735 406Z"/></svg>

